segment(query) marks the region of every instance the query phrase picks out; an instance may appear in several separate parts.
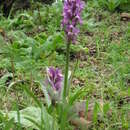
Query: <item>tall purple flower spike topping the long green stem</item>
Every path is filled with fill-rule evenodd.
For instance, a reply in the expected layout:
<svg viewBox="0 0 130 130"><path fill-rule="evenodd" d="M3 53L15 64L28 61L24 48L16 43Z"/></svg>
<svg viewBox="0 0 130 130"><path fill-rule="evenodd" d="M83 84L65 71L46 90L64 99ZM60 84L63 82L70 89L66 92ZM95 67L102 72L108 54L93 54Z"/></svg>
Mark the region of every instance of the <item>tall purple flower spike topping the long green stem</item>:
<svg viewBox="0 0 130 130"><path fill-rule="evenodd" d="M68 41L75 43L79 29L77 24L82 24L80 17L84 8L84 2L81 0L65 0L63 10L62 27L67 36Z"/></svg>

